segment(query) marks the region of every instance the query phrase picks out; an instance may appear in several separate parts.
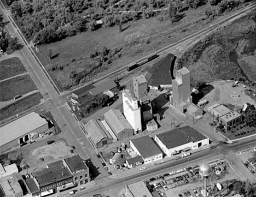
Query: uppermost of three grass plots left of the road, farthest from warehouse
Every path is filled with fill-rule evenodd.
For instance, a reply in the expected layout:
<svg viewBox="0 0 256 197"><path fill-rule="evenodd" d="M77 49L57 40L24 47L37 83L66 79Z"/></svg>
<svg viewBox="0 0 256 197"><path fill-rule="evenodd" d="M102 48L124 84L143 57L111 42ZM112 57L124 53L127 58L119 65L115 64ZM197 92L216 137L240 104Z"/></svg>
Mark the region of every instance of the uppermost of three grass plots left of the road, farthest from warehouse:
<svg viewBox="0 0 256 197"><path fill-rule="evenodd" d="M0 80L22 73L26 73L26 69L18 57L12 57L0 62Z"/></svg>

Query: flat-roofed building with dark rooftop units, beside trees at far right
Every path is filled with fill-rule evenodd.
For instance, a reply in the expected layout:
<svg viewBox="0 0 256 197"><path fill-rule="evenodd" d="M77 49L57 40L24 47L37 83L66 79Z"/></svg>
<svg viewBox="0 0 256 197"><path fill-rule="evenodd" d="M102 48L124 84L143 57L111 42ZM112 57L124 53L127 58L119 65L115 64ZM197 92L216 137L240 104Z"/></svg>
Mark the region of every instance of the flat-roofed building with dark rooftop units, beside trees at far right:
<svg viewBox="0 0 256 197"><path fill-rule="evenodd" d="M232 127L242 121L242 115L239 114L237 111L230 111L228 114L221 116L219 120L225 128Z"/></svg>

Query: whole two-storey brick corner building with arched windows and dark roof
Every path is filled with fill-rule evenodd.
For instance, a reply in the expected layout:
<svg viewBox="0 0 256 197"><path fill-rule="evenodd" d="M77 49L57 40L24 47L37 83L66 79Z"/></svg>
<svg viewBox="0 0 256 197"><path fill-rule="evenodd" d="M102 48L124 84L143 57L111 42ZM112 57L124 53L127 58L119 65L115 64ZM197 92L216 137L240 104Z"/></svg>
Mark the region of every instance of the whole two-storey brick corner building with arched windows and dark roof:
<svg viewBox="0 0 256 197"><path fill-rule="evenodd" d="M63 159L63 165L67 167L73 175L73 183L76 186L90 182L89 168L78 154L73 157Z"/></svg>

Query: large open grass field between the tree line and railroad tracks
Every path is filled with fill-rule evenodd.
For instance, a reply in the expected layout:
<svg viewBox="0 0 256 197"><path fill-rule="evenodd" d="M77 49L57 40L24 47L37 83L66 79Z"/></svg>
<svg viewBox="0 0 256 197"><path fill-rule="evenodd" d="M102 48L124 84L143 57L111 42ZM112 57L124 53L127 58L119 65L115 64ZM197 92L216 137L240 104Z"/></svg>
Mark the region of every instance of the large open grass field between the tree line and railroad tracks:
<svg viewBox="0 0 256 197"><path fill-rule="evenodd" d="M108 49L122 47L119 58L111 64L103 65L86 76L84 81L97 78L126 64L136 61L149 53L174 43L191 33L208 26L211 21L205 19L205 10L209 5L184 11L183 18L178 22L170 20L158 21L156 17L127 22L123 32L118 27L100 28L95 32L84 32L56 43L39 46L42 52L38 53L40 61L48 70L52 67L60 69L51 70L55 79L63 88L72 85L69 74L72 70L77 72L88 69L90 53L103 46ZM48 49L53 50L53 58L49 61Z"/></svg>

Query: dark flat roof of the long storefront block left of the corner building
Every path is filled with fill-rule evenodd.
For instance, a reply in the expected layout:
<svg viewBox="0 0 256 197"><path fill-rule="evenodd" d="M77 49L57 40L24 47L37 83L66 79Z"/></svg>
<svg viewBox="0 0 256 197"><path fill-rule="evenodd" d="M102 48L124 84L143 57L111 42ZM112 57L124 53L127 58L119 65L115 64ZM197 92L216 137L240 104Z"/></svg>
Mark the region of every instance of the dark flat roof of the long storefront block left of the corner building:
<svg viewBox="0 0 256 197"><path fill-rule="evenodd" d="M41 171L33 172L32 176L36 178L40 187L73 177L68 168L65 168L63 165L58 165L52 168L46 168Z"/></svg>

